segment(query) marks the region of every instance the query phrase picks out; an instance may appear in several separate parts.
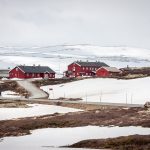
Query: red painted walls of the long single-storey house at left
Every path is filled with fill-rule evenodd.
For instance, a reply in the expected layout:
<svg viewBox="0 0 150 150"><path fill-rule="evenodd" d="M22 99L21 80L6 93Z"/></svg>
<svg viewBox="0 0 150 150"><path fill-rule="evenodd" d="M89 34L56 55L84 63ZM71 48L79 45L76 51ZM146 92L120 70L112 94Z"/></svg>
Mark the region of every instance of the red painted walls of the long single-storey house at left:
<svg viewBox="0 0 150 150"><path fill-rule="evenodd" d="M29 78L55 78L55 73L24 73L18 67L15 67L9 72L9 78L20 78L20 79L29 79Z"/></svg>

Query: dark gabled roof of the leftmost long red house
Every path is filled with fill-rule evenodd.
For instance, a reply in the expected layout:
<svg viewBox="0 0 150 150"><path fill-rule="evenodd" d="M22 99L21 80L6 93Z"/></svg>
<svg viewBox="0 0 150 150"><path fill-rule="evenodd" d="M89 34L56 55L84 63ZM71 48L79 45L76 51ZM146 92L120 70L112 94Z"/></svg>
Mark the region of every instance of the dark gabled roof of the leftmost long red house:
<svg viewBox="0 0 150 150"><path fill-rule="evenodd" d="M44 72L55 73L51 68L47 66L17 66L17 67L20 68L25 73L44 73Z"/></svg>

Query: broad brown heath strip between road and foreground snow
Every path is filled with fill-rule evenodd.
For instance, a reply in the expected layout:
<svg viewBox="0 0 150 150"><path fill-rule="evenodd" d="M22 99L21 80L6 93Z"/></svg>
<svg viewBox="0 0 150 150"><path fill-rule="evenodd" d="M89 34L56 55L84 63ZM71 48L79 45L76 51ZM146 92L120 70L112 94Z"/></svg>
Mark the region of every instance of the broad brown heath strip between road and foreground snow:
<svg viewBox="0 0 150 150"><path fill-rule="evenodd" d="M18 102L16 101L16 103ZM24 105L24 102L22 103ZM67 104L48 101L43 103L80 108L85 111L0 121L0 137L30 134L30 130L47 127L63 128L87 125L150 127L150 110L145 108Z"/></svg>

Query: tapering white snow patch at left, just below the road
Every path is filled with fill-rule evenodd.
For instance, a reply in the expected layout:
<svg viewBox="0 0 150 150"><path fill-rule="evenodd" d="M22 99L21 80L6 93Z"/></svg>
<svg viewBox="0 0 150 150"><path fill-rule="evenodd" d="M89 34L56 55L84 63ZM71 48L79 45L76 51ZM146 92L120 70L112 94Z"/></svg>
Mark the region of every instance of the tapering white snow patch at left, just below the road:
<svg viewBox="0 0 150 150"><path fill-rule="evenodd" d="M82 111L80 109L42 105L42 104L28 104L29 108L0 108L0 120L16 119L23 117L41 116L54 113L68 113Z"/></svg>

